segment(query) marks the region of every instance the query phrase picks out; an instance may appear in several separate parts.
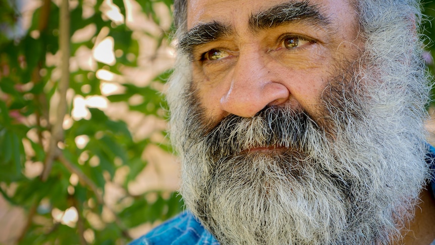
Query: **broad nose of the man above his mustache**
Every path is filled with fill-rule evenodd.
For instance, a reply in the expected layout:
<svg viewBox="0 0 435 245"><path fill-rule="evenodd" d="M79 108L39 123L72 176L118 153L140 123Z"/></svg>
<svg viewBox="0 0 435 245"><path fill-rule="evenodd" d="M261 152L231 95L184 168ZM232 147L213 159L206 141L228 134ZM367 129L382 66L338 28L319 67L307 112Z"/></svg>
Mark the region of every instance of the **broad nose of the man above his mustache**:
<svg viewBox="0 0 435 245"><path fill-rule="evenodd" d="M266 65L261 55L240 54L235 64L230 87L222 96L222 110L241 117L252 117L267 106L281 105L289 100L290 91Z"/></svg>

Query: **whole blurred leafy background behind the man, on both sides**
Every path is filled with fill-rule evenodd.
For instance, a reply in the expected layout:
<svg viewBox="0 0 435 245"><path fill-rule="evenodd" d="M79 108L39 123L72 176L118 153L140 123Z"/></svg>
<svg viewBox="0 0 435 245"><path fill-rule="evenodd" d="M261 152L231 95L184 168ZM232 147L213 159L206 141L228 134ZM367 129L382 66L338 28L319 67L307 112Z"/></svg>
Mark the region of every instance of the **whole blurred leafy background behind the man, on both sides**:
<svg viewBox="0 0 435 245"><path fill-rule="evenodd" d="M127 244L183 210L162 94L171 8L0 0L0 244Z"/></svg>

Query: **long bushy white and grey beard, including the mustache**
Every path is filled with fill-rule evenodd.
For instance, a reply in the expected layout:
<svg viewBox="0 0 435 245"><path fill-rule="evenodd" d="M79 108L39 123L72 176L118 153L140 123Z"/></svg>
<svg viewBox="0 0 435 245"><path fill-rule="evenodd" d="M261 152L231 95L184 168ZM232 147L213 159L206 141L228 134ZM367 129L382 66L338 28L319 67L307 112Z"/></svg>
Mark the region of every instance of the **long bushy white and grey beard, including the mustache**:
<svg viewBox="0 0 435 245"><path fill-rule="evenodd" d="M387 46L375 41L370 45ZM183 164L181 193L221 244L400 239L429 176L422 128L428 87L419 64L410 65L418 57L370 54L358 61L364 68L350 65L337 69L344 79L331 77L321 121L274 107L217 126L207 123L213 120L203 115L189 88L187 59L179 56L168 102ZM247 151L267 145L279 148Z"/></svg>

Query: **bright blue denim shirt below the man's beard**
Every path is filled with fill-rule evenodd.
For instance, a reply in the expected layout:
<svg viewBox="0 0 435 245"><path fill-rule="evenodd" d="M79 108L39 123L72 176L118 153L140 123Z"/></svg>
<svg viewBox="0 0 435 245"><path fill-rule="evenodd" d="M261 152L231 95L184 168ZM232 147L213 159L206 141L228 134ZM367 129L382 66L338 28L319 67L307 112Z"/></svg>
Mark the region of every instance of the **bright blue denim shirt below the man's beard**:
<svg viewBox="0 0 435 245"><path fill-rule="evenodd" d="M435 148L429 145L426 162L435 171ZM435 197L435 178L430 181L433 197ZM196 220L189 211L157 226L146 235L132 241L129 245L219 245L219 242ZM435 245L435 240L430 243Z"/></svg>

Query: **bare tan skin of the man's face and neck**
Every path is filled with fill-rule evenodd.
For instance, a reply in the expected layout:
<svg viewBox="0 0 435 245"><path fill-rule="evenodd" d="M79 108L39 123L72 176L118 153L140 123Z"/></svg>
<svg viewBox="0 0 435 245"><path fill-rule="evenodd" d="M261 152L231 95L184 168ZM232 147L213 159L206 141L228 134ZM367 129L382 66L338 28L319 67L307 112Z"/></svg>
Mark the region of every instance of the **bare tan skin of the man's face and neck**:
<svg viewBox="0 0 435 245"><path fill-rule="evenodd" d="M252 117L267 106L290 105L313 118L321 116L320 97L327 81L364 48L358 16L345 0L312 0L329 18L328 25L294 21L253 31L252 14L288 1L190 0L187 29L219 22L231 29L210 42L194 45L192 84L206 117L215 123L230 114ZM237 6L235 8L234 6ZM287 36L297 46L283 44ZM284 38L284 39L283 39ZM288 39L287 39L288 40ZM253 149L264 151L264 149ZM274 149L268 149L273 151ZM435 239L435 207L427 190L402 242L429 244Z"/></svg>

